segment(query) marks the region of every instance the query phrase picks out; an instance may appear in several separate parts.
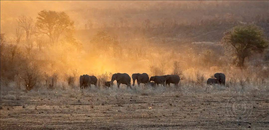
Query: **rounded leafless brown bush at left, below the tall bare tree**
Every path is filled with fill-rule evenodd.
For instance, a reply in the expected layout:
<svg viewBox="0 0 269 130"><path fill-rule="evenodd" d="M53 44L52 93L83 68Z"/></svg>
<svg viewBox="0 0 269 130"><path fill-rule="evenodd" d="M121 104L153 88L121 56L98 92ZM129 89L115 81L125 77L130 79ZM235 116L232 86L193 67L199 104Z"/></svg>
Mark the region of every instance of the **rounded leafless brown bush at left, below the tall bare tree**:
<svg viewBox="0 0 269 130"><path fill-rule="evenodd" d="M24 85L27 91L31 90L40 82L40 68L33 62L23 65L21 68L22 79L24 80Z"/></svg>

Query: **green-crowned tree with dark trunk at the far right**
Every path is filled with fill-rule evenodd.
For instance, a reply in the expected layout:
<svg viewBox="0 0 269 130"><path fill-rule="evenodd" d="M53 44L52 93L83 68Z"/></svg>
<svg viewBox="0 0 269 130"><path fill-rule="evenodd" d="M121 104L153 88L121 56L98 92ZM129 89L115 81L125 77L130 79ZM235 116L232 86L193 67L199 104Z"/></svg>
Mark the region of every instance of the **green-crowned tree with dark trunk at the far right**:
<svg viewBox="0 0 269 130"><path fill-rule="evenodd" d="M240 67L244 66L246 57L268 47L263 30L254 24L233 27L224 34L221 43L227 53L232 53L238 58L238 66Z"/></svg>

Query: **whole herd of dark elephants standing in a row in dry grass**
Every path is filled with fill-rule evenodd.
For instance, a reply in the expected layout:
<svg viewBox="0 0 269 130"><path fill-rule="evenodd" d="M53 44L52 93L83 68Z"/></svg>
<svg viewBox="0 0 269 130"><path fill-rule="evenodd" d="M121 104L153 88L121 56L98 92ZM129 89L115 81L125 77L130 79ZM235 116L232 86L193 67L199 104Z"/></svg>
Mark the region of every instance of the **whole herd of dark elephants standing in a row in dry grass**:
<svg viewBox="0 0 269 130"><path fill-rule="evenodd" d="M215 73L214 77L216 79L209 78L207 80L207 84L220 84L225 86L225 75L223 73ZM111 76L110 81L104 82L105 87L111 87L113 86L113 82L117 81L117 86L121 84L126 84L127 87L131 87L131 77L127 73L115 73ZM144 87L146 85L155 87L156 85L159 86L161 84L162 86L169 86L170 84L175 84L176 87L178 87L180 83L180 77L178 75L163 75L163 76L151 76L150 78L148 77L147 73L134 73L132 74L132 80L134 86L135 80L137 81L138 86L140 84L144 84ZM151 82L153 81L153 82ZM97 78L95 76L89 76L89 75L81 75L79 78L79 83L80 83L80 88L87 88L91 84L97 86Z"/></svg>

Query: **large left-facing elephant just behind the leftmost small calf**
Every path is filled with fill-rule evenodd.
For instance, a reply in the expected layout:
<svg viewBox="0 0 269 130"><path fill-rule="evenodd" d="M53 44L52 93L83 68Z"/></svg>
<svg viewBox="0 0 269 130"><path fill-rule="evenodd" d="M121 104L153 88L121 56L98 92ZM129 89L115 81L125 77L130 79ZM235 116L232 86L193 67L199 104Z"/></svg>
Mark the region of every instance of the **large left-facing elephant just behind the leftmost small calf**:
<svg viewBox="0 0 269 130"><path fill-rule="evenodd" d="M126 84L127 87L131 87L131 77L127 73L115 73L111 77L111 82L117 81L118 88L121 84Z"/></svg>

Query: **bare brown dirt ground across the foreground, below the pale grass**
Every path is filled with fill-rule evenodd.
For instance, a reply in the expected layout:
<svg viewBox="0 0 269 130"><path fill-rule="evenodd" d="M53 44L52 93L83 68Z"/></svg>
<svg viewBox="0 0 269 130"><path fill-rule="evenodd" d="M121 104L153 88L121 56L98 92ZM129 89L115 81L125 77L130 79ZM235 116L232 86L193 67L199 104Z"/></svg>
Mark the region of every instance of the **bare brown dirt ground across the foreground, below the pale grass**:
<svg viewBox="0 0 269 130"><path fill-rule="evenodd" d="M1 100L1 129L268 129L268 99L236 121L216 95Z"/></svg>

